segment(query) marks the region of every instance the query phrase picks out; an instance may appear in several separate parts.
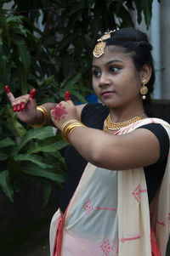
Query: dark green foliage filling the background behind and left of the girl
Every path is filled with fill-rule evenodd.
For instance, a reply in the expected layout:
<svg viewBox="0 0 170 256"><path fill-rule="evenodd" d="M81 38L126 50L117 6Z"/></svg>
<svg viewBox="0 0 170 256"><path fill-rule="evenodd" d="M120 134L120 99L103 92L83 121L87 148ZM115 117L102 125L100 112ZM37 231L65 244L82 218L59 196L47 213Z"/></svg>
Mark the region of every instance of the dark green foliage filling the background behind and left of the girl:
<svg viewBox="0 0 170 256"><path fill-rule="evenodd" d="M75 103L91 94L91 58L96 38L108 29L133 26L144 14L150 26L152 0L0 1L0 187L11 202L20 179L42 183L44 204L53 183L65 180L61 149L52 128L31 129L7 105L4 86L14 96L37 89L37 102L59 102L69 90ZM41 29L37 26L42 17Z"/></svg>

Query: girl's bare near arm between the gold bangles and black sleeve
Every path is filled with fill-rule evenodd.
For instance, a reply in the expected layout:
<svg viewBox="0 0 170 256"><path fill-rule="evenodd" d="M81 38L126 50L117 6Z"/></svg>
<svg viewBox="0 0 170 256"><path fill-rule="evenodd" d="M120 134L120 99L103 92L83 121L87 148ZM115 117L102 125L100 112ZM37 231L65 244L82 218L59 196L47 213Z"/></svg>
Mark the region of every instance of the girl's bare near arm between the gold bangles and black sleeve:
<svg viewBox="0 0 170 256"><path fill-rule="evenodd" d="M88 162L110 170L143 168L156 163L161 156L159 140L145 128L138 128L129 134L113 135L82 127L75 129L69 139Z"/></svg>

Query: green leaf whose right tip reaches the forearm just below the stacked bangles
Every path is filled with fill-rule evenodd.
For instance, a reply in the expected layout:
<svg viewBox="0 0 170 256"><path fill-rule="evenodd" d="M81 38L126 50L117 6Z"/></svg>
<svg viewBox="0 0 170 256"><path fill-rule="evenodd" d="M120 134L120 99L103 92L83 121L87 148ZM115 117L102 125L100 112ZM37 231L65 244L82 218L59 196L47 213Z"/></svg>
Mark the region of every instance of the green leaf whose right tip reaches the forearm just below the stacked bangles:
<svg viewBox="0 0 170 256"><path fill-rule="evenodd" d="M37 153L39 151L43 152L54 152L59 151L68 145L65 140L59 140L57 136L53 136L51 138L43 139L31 145L28 150L29 153Z"/></svg>

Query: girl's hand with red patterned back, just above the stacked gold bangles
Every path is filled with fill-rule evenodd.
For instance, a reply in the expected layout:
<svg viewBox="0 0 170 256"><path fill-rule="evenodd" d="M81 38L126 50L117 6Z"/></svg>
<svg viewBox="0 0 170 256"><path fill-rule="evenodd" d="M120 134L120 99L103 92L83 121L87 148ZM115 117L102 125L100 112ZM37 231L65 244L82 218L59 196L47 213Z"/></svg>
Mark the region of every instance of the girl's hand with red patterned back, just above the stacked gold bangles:
<svg viewBox="0 0 170 256"><path fill-rule="evenodd" d="M79 119L77 108L73 104L68 92L65 94L65 101L61 101L51 110L51 119L54 125L59 129L61 129L64 122L70 119Z"/></svg>

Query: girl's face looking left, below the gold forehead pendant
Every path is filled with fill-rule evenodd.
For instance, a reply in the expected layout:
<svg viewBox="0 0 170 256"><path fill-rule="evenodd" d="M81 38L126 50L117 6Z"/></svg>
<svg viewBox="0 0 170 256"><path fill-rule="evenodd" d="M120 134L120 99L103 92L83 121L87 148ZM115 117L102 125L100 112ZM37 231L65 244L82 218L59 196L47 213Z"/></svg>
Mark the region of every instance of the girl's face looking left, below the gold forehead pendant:
<svg viewBox="0 0 170 256"><path fill-rule="evenodd" d="M135 69L131 54L118 46L107 46L105 54L92 64L93 87L98 99L108 107L140 103L142 72Z"/></svg>

